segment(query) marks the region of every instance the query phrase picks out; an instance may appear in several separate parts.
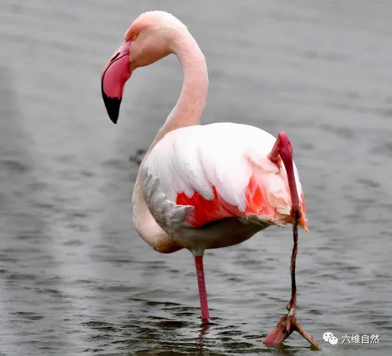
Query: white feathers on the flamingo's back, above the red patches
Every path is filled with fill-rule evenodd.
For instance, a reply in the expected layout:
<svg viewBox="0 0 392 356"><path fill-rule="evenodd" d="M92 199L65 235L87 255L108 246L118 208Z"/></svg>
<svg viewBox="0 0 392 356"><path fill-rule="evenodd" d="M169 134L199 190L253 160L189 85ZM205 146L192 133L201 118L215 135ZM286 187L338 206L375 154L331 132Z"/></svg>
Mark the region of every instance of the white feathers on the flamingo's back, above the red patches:
<svg viewBox="0 0 392 356"><path fill-rule="evenodd" d="M142 168L153 177L159 177L160 189L174 203L181 192L192 197L196 191L212 200L214 186L226 202L243 212L245 188L253 173L251 162L264 170L278 172L267 157L275 141L268 132L242 124L213 123L178 128L168 132L154 146ZM294 173L301 201L302 188L295 165ZM287 209L281 213L289 214L291 202L287 185L281 177L275 177L269 180L270 192L284 198Z"/></svg>

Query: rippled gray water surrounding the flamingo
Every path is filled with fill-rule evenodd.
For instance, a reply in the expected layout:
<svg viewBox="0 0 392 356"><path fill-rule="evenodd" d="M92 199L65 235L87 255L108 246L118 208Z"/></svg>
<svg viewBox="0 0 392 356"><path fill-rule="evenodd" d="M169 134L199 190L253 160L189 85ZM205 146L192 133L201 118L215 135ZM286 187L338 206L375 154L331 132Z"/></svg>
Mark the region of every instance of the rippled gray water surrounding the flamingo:
<svg viewBox="0 0 392 356"><path fill-rule="evenodd" d="M136 70L118 125L100 74L151 9L180 18L205 54L202 123L290 137L310 228L297 317L319 354L392 354L392 2L312 0L0 2L0 354L316 352L298 334L262 343L290 297L290 229L207 251L207 330L191 253L160 255L134 230L129 157L150 145L182 71L174 56Z"/></svg>

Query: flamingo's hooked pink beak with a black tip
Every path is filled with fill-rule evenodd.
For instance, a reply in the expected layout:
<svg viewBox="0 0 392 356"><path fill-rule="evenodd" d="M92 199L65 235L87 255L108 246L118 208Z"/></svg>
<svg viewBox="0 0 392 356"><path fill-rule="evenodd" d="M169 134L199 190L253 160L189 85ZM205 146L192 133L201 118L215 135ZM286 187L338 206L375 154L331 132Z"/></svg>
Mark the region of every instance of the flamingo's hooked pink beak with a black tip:
<svg viewBox="0 0 392 356"><path fill-rule="evenodd" d="M106 63L101 75L102 98L113 123L117 123L125 82L131 77L129 49L131 41L123 42Z"/></svg>

